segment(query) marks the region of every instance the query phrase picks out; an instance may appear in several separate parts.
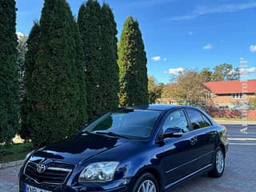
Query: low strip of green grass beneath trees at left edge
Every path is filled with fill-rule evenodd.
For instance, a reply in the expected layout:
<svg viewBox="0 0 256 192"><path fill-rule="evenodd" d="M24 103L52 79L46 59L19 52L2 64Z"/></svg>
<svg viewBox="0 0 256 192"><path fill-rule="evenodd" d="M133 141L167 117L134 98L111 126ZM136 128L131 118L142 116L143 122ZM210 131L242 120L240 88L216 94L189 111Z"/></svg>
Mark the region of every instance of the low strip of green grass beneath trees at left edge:
<svg viewBox="0 0 256 192"><path fill-rule="evenodd" d="M31 150L33 150L31 142L0 146L0 163L22 160Z"/></svg>

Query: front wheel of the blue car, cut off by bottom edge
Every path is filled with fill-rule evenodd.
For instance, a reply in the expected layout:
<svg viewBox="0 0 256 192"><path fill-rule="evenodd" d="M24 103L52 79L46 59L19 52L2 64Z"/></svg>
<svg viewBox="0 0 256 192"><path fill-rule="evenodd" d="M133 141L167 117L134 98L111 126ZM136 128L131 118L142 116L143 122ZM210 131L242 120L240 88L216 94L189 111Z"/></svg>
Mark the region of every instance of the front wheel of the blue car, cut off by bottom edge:
<svg viewBox="0 0 256 192"><path fill-rule="evenodd" d="M134 184L132 192L159 192L157 180L153 174L142 174Z"/></svg>

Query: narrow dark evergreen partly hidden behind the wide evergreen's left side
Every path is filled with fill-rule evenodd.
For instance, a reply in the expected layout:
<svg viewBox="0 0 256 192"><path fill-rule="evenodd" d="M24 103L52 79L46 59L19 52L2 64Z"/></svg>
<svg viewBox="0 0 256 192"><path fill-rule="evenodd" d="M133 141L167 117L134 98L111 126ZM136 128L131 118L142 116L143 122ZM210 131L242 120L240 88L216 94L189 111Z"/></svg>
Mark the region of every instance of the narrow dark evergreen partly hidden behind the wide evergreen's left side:
<svg viewBox="0 0 256 192"><path fill-rule="evenodd" d="M24 139L30 138L30 117L32 113L32 101L30 98L33 97L32 86L34 82L32 81L32 74L34 73L34 68L36 65L36 58L38 55L40 40L40 25L38 22L34 22L34 26L30 31L30 35L27 39L27 51L25 56L25 74L24 74L24 91L25 95L21 104L21 119L22 127L19 134Z"/></svg>

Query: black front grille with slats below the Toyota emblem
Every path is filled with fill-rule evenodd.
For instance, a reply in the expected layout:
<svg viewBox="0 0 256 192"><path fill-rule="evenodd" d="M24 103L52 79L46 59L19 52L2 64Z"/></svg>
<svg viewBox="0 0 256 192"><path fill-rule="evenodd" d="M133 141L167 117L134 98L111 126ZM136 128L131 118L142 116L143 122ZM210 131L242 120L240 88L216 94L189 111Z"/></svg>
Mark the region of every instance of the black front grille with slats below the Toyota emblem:
<svg viewBox="0 0 256 192"><path fill-rule="evenodd" d="M62 184L74 169L69 164L50 162L44 172L38 173L37 166L38 162L27 162L24 173L38 183Z"/></svg>

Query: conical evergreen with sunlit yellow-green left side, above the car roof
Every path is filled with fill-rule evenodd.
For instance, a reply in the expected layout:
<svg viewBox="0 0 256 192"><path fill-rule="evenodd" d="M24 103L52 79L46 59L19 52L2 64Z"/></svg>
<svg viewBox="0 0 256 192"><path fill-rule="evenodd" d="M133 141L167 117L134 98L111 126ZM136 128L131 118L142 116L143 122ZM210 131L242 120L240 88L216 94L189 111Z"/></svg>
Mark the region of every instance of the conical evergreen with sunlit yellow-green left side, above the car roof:
<svg viewBox="0 0 256 192"><path fill-rule="evenodd" d="M120 106L148 104L146 51L138 22L128 17L118 42Z"/></svg>

